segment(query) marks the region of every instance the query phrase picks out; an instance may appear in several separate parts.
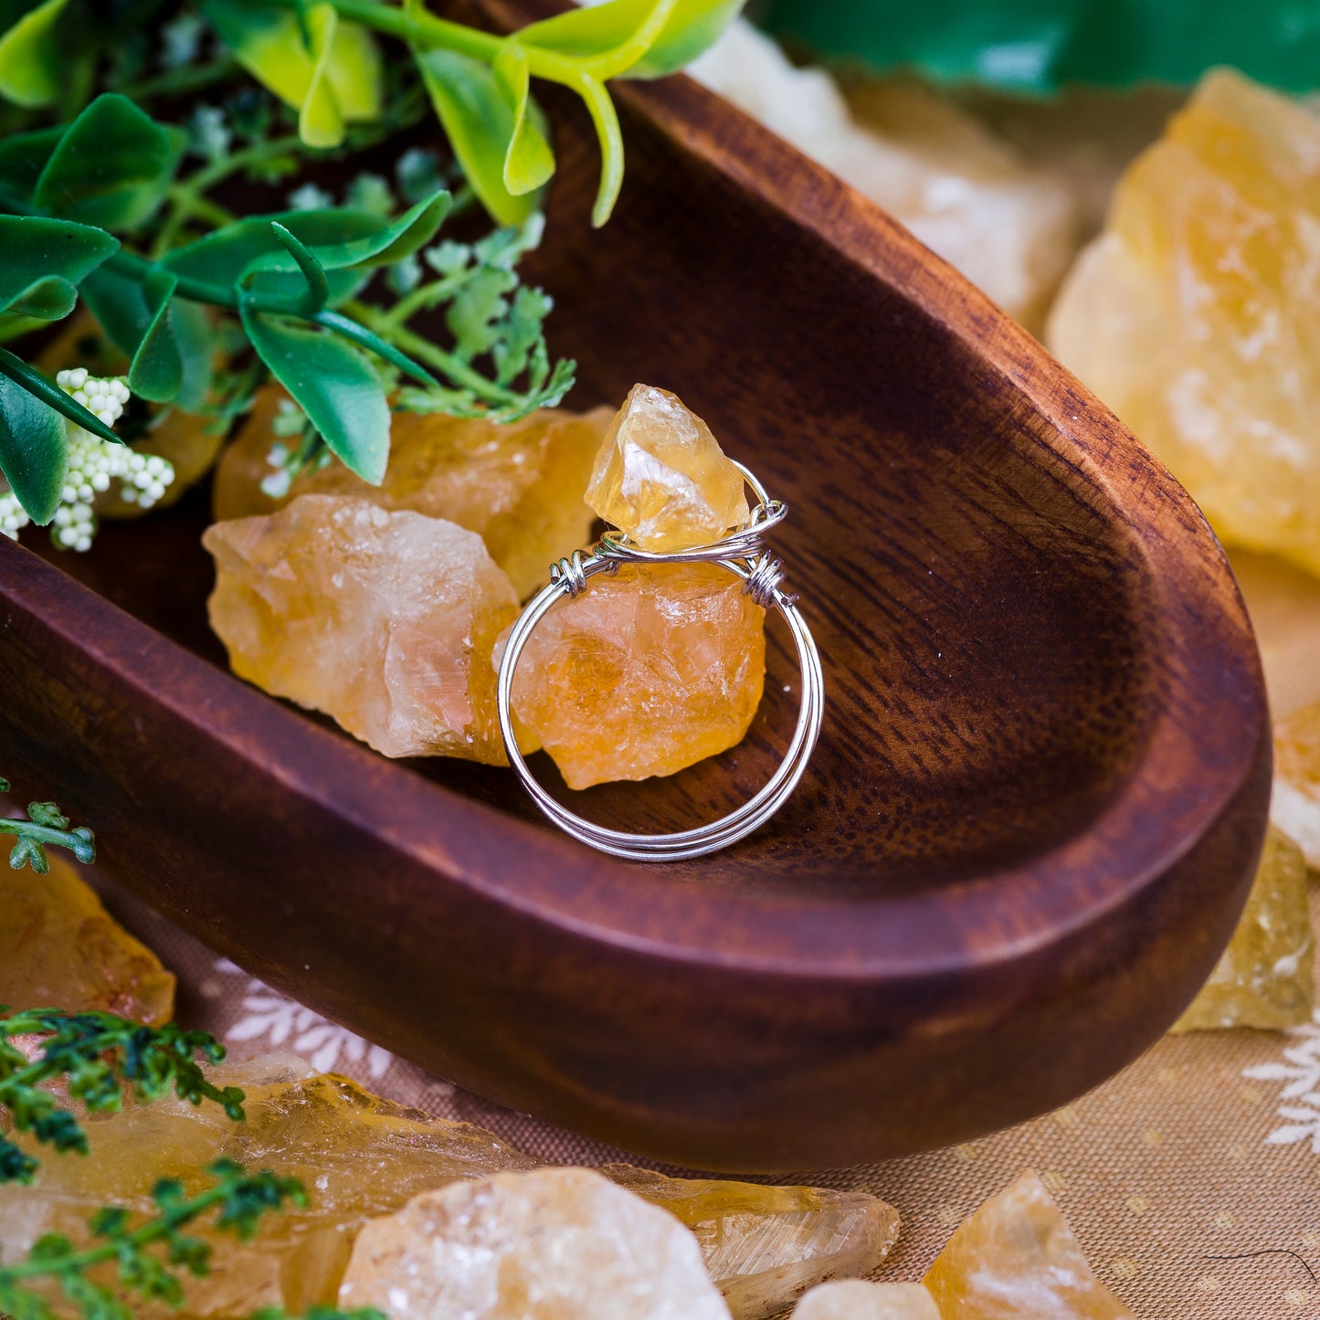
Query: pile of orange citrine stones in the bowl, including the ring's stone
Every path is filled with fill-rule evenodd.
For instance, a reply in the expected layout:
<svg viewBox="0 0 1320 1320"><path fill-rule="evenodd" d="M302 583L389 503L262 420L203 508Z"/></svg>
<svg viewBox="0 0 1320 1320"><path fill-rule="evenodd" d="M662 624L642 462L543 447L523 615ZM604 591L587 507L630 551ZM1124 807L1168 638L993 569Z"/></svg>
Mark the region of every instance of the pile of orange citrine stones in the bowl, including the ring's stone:
<svg viewBox="0 0 1320 1320"><path fill-rule="evenodd" d="M235 673L388 756L506 762L496 636L593 512L645 549L748 517L742 473L706 424L647 385L607 429L603 412L513 426L400 414L380 490L330 465L282 507L256 475L276 408L273 393L259 401L218 474L219 512L273 511L207 531L211 626ZM519 742L545 747L573 788L671 775L744 737L764 672L764 610L727 569L624 568L533 634L513 688Z"/></svg>

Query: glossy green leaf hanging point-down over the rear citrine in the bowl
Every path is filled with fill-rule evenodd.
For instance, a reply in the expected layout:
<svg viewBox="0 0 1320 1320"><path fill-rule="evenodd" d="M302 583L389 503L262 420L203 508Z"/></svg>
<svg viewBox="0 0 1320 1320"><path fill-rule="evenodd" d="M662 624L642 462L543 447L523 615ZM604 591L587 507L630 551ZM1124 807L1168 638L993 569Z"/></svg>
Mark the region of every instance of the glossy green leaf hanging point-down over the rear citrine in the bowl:
<svg viewBox="0 0 1320 1320"><path fill-rule="evenodd" d="M379 486L389 457L389 404L368 358L337 335L240 308L257 356L308 414L330 450Z"/></svg>

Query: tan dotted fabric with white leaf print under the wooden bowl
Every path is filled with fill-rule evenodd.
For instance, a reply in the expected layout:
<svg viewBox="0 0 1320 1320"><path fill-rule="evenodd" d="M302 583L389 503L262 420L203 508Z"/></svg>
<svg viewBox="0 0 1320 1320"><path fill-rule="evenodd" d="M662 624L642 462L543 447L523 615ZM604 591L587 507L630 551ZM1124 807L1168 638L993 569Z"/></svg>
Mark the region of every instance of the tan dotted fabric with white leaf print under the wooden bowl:
<svg viewBox="0 0 1320 1320"><path fill-rule="evenodd" d="M1320 583L1255 556L1242 557L1239 570L1278 713L1320 698ZM104 892L178 974L180 1019L236 1053L293 1051L401 1102L494 1129L548 1163L622 1158L389 1057L114 887ZM1320 1026L1168 1038L1032 1123L797 1180L861 1188L896 1205L903 1236L880 1276L919 1279L953 1226L1026 1167L1041 1173L1092 1263L1139 1320L1320 1316L1320 1284L1309 1272L1320 1274ZM1259 1251L1272 1254L1220 1259Z"/></svg>

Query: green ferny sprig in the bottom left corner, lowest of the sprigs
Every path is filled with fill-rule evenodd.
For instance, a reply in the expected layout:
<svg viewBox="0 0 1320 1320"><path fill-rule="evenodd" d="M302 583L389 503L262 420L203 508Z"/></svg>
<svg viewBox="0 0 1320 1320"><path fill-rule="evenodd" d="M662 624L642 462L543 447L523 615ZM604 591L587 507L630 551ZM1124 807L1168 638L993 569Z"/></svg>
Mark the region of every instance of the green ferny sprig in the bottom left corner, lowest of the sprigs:
<svg viewBox="0 0 1320 1320"><path fill-rule="evenodd" d="M306 1205L297 1179L269 1170L248 1173L227 1159L209 1172L215 1183L197 1196L187 1196L176 1179L158 1181L152 1191L156 1213L139 1222L119 1206L98 1210L88 1229L100 1241L92 1246L79 1250L63 1234L48 1233L25 1261L0 1263L0 1312L11 1320L53 1320L50 1302L29 1287L38 1280L58 1284L86 1320L133 1320L125 1292L177 1307L183 1300L182 1275L205 1278L210 1272L211 1247L186 1233L189 1225L214 1210L215 1228L246 1242L271 1210L285 1203ZM157 1247L162 1254L156 1254ZM106 1265L115 1266L119 1288L90 1276ZM362 1312L356 1315L366 1320Z"/></svg>

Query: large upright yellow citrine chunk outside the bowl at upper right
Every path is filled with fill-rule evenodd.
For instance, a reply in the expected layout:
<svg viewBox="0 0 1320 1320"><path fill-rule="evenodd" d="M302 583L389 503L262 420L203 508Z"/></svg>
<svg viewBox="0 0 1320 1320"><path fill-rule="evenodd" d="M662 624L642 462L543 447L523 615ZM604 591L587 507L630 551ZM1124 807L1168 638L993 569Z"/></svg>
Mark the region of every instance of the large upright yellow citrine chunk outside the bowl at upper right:
<svg viewBox="0 0 1320 1320"><path fill-rule="evenodd" d="M1320 117L1205 75L1118 185L1047 338L1220 535L1320 573Z"/></svg>

